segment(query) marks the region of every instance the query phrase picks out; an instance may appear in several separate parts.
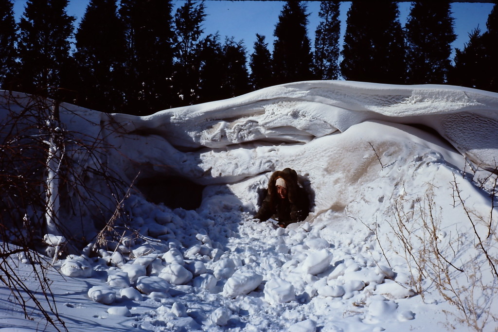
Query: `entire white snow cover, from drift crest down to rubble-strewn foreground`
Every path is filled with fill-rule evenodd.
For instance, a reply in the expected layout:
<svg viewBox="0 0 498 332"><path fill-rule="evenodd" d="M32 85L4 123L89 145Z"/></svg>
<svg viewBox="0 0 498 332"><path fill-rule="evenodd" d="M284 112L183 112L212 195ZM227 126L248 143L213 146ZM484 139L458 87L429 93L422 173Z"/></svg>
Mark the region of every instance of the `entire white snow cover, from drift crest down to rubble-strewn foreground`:
<svg viewBox="0 0 498 332"><path fill-rule="evenodd" d="M206 186L196 210L133 191L123 207L137 232L58 263L72 291L57 286L54 296L70 331L468 331L417 270L436 242L432 258L453 264L457 294L477 284L471 274L497 282L476 246L479 234L498 254L488 172L496 93L313 81L143 117L64 107L67 130L113 147L101 162L125 183L173 176ZM271 173L286 167L309 192L310 216L286 229L252 220ZM493 287L473 287L474 307L497 316Z"/></svg>

